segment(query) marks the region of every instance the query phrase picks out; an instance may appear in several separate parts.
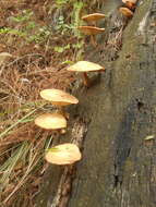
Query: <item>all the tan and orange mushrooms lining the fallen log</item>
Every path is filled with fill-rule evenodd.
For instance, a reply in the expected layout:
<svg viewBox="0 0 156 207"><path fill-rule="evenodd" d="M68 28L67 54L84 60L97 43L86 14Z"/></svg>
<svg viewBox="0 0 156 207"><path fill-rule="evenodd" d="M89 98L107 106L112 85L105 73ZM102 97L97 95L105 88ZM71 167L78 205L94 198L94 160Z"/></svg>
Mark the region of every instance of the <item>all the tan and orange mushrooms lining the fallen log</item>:
<svg viewBox="0 0 156 207"><path fill-rule="evenodd" d="M137 0L122 0L125 7L120 8L120 12L125 16L131 17ZM96 22L104 19L105 14L94 13L82 17L82 20L88 23L88 26L79 26L79 29L92 38L92 44L95 46L95 35L103 33L105 28L96 26ZM67 69L71 72L82 72L83 83L85 86L89 86L89 78L87 72L104 71L105 69L94 62L79 61L75 64ZM35 124L45 130L57 130L59 133L65 133L68 114L64 111L64 106L76 105L77 98L74 96L56 88L44 89L40 92L43 99L55 105L58 110L53 113L44 113L35 119ZM46 160L56 165L72 165L82 158L81 151L75 144L65 143L57 145L46 153Z"/></svg>

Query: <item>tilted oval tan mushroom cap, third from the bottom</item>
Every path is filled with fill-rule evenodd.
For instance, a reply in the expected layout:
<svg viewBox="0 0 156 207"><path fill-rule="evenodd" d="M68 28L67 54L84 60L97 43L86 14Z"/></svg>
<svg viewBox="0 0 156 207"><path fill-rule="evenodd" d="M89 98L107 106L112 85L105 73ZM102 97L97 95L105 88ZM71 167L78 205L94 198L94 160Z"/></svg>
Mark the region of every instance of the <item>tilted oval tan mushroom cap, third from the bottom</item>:
<svg viewBox="0 0 156 207"><path fill-rule="evenodd" d="M44 89L40 92L41 98L51 101L53 105L59 105L59 106L65 106L65 105L76 105L79 100L60 89Z"/></svg>

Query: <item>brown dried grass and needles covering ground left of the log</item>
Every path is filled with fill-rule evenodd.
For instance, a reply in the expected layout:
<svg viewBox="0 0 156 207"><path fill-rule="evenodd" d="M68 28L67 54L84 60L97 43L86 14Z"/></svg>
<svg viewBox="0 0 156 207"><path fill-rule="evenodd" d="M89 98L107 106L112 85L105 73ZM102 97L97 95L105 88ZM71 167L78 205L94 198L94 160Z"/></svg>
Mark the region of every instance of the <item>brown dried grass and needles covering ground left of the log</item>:
<svg viewBox="0 0 156 207"><path fill-rule="evenodd" d="M51 1L2 0L0 26L14 26L9 22L9 17L16 15L23 9L32 9L38 24L49 24L47 8L50 3ZM31 147L27 156L29 154L33 156L32 170L26 175L28 160L20 161L19 159L13 167L11 175L5 181L8 184L0 190L1 206L34 206L34 197L39 191L41 176L47 168L39 156L40 154L43 156L46 139L55 136L53 132L45 132L35 126L32 121L39 111L44 110L39 92L52 87L65 90L74 81L74 75L67 72L65 65L61 62L75 57L75 51L69 49L58 53L51 50L52 47L67 41L76 42L76 38L63 39L61 36L56 39L50 36L40 45L25 44L21 37L0 34L0 52L7 51L13 56L0 69L0 133L19 122L29 111L43 107L27 121L19 122L0 139L0 166L7 163L17 147L25 142ZM0 171L0 179L4 174L5 171Z"/></svg>

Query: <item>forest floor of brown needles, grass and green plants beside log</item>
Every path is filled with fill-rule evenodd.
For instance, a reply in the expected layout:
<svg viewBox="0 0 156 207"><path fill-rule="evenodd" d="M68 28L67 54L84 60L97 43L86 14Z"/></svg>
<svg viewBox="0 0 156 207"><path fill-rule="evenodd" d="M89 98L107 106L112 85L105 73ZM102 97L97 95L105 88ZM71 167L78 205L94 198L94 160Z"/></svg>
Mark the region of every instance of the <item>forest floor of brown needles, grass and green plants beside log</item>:
<svg viewBox="0 0 156 207"><path fill-rule="evenodd" d="M34 206L53 138L34 124L51 110L39 92L72 86L75 76L65 69L83 56L82 9L72 0L1 0L0 206Z"/></svg>

